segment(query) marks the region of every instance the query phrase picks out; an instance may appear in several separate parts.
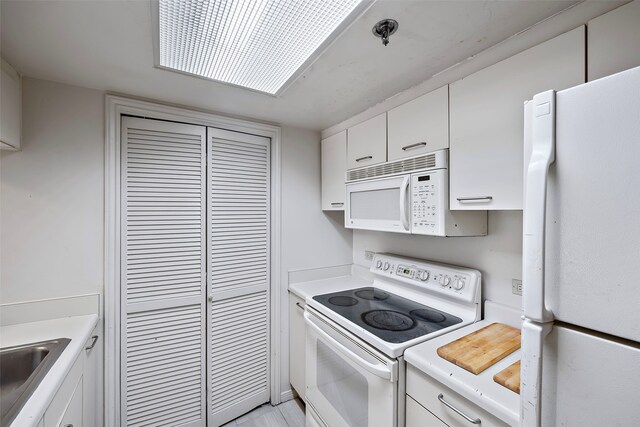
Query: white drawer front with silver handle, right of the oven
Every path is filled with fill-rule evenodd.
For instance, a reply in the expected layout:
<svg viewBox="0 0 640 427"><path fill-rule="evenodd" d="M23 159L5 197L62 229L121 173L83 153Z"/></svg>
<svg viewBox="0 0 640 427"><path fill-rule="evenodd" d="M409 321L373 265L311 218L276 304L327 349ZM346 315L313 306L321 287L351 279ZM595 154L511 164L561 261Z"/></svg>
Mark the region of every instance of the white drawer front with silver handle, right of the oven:
<svg viewBox="0 0 640 427"><path fill-rule="evenodd" d="M407 394L451 427L508 426L489 412L409 364L407 364ZM410 425L407 413L407 426Z"/></svg>

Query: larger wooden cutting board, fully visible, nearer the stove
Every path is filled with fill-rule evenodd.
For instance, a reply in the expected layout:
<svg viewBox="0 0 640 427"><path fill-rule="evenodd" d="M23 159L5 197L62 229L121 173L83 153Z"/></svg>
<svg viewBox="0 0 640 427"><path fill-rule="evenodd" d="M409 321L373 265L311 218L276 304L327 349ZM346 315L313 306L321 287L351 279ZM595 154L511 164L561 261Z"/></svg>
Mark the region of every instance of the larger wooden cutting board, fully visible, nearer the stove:
<svg viewBox="0 0 640 427"><path fill-rule="evenodd" d="M519 348L519 329L492 323L438 348L438 356L478 375Z"/></svg>

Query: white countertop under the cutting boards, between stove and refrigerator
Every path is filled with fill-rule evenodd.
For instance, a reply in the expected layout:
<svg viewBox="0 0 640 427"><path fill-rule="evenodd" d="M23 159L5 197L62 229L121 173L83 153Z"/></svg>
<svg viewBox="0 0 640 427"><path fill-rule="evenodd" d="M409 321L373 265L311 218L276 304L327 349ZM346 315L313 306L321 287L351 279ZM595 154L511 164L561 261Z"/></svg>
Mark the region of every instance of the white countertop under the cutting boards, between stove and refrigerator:
<svg viewBox="0 0 640 427"><path fill-rule="evenodd" d="M494 322L520 328L520 315L519 310L487 301L484 320L411 347L405 351L404 359L507 424L519 425L520 395L496 383L493 376L520 360L520 350L516 350L478 375L443 359L436 351L439 347Z"/></svg>

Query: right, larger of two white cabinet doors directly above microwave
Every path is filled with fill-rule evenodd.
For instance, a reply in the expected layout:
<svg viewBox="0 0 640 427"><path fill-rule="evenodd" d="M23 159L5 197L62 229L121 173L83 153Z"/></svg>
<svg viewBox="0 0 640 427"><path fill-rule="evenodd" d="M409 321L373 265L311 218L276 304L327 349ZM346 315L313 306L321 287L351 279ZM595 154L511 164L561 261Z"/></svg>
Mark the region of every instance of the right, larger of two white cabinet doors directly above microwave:
<svg viewBox="0 0 640 427"><path fill-rule="evenodd" d="M389 161L449 148L449 86L387 113Z"/></svg>

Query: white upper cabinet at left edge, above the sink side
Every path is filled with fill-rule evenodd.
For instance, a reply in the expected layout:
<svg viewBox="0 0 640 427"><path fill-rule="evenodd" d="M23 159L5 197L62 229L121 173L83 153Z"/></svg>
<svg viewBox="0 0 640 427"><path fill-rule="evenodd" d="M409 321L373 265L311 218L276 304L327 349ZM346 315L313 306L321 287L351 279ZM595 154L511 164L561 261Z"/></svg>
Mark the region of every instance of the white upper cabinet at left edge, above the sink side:
<svg viewBox="0 0 640 427"><path fill-rule="evenodd" d="M2 59L0 77L0 148L20 149L22 127L22 88L20 76Z"/></svg>

